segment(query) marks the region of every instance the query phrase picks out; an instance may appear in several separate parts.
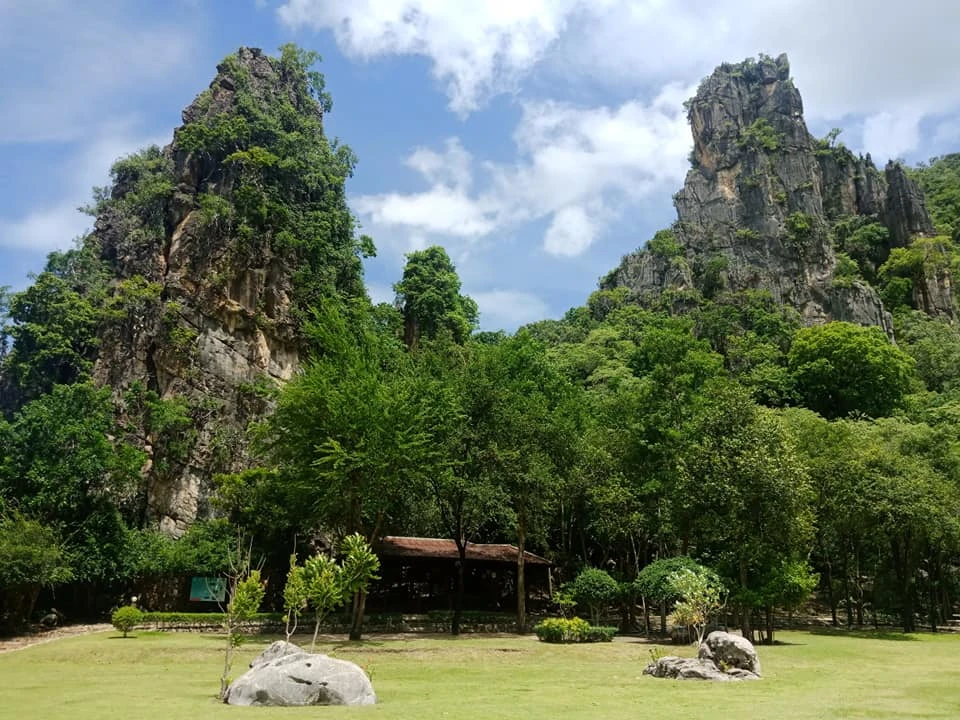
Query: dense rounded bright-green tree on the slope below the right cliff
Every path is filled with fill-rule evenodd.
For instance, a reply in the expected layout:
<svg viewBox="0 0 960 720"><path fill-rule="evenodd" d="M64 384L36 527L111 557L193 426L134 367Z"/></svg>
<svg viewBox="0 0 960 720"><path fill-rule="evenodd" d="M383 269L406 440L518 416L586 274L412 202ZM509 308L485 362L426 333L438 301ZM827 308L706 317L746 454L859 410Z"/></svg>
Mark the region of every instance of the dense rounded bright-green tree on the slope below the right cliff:
<svg viewBox="0 0 960 720"><path fill-rule="evenodd" d="M914 361L878 327L845 322L803 328L788 356L803 404L827 418L889 415L903 404Z"/></svg>

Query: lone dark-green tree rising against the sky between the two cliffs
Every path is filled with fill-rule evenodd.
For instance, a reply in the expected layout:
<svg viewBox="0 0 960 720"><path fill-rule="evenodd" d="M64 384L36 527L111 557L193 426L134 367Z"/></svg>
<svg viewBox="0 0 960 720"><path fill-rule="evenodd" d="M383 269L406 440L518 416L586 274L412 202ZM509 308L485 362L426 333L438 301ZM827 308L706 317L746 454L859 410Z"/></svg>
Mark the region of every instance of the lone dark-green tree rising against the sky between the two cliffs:
<svg viewBox="0 0 960 720"><path fill-rule="evenodd" d="M407 254L403 278L393 286L396 306L403 312L403 339L417 346L421 337L448 332L463 343L477 324L477 304L460 294L460 278L439 245Z"/></svg>

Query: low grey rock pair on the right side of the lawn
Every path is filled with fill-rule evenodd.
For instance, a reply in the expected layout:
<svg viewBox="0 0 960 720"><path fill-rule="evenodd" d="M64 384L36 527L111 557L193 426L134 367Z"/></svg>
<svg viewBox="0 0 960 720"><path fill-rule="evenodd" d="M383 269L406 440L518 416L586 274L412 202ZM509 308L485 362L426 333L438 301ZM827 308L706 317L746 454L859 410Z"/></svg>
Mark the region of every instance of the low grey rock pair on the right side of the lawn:
<svg viewBox="0 0 960 720"><path fill-rule="evenodd" d="M749 640L731 633L710 633L695 658L675 655L658 658L643 671L644 675L676 680L758 680L760 659Z"/></svg>

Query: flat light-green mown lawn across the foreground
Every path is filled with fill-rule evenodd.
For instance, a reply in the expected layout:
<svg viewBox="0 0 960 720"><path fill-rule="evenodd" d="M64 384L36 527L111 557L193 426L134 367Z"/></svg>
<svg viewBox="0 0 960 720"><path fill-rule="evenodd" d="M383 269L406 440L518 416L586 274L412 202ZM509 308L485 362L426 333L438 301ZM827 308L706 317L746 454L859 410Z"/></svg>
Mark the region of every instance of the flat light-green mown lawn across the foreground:
<svg viewBox="0 0 960 720"><path fill-rule="evenodd" d="M652 646L632 639L325 643L323 652L371 674L379 705L234 708L214 699L220 637L100 633L0 654L0 718L960 718L960 637L785 632L780 639L783 645L759 648L763 680L724 684L642 676ZM266 642L241 649L235 676Z"/></svg>

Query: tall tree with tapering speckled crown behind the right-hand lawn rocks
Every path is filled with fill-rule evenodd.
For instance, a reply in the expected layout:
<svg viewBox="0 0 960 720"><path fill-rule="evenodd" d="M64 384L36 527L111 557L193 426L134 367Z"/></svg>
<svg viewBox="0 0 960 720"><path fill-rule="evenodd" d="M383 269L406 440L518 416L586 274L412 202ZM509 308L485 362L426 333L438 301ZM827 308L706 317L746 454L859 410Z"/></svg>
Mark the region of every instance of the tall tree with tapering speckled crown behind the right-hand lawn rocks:
<svg viewBox="0 0 960 720"><path fill-rule="evenodd" d="M672 509L697 555L711 558L740 612L744 637L752 638L770 573L783 560L809 553L813 498L775 412L757 407L735 385L718 385L712 394L688 428L692 441L681 458ZM769 623L767 630L770 642Z"/></svg>

